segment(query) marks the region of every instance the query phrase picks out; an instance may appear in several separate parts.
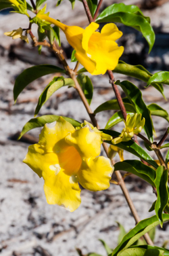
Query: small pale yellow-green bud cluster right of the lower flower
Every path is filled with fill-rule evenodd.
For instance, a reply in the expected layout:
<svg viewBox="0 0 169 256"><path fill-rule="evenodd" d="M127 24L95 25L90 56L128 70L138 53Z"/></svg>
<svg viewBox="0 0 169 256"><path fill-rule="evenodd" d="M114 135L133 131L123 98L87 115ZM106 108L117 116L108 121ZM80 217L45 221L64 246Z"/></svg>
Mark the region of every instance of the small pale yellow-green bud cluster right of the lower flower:
<svg viewBox="0 0 169 256"><path fill-rule="evenodd" d="M141 114L135 114L132 117L128 114L126 117L126 122L124 122L125 128L119 137L112 140L113 144L120 143L122 141L130 141L134 134L141 132L143 126L145 125L145 118L141 120Z"/></svg>

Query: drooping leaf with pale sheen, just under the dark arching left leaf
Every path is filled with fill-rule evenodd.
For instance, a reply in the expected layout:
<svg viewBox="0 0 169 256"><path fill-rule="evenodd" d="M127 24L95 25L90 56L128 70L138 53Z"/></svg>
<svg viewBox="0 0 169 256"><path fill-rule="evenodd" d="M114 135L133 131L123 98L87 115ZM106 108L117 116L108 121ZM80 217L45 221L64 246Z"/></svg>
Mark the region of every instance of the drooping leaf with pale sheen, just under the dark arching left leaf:
<svg viewBox="0 0 169 256"><path fill-rule="evenodd" d="M64 79L64 77L54 77L39 97L39 101L35 109L34 116L36 116L39 113L39 110L47 102L51 95L62 86L74 87L74 81L71 78Z"/></svg>

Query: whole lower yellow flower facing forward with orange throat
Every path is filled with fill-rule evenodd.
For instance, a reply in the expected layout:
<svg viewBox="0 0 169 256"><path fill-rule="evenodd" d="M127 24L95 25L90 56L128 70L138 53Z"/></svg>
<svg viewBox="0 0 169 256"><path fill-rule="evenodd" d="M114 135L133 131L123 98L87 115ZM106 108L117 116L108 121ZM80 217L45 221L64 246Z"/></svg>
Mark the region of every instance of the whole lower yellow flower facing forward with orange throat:
<svg viewBox="0 0 169 256"><path fill-rule="evenodd" d="M45 124L39 143L30 145L24 163L45 180L48 204L59 204L69 211L80 205L80 187L97 191L110 186L113 166L99 156L101 132L88 124L75 130L59 117ZM99 157L98 157L99 156Z"/></svg>

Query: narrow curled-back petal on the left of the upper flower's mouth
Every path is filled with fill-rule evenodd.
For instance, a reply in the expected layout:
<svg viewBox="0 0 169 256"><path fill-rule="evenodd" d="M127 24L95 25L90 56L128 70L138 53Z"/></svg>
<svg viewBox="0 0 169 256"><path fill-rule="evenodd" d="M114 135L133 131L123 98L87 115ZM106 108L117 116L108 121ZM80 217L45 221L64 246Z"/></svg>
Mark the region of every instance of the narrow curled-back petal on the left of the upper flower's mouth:
<svg viewBox="0 0 169 256"><path fill-rule="evenodd" d="M89 24L89 26L87 26L87 28L84 29L84 32L82 33L82 48L84 50L88 50L89 39L98 28L99 24L91 22L91 24Z"/></svg>

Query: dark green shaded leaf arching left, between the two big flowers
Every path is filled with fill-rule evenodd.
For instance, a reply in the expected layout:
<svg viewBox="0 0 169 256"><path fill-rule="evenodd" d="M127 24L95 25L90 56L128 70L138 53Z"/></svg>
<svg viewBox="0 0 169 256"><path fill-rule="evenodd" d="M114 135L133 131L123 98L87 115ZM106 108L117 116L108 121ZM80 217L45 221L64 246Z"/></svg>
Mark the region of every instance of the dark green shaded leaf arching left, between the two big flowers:
<svg viewBox="0 0 169 256"><path fill-rule="evenodd" d="M60 69L59 67L53 65L39 65L30 67L25 69L18 77L16 78L16 82L14 85L14 100L18 98L18 95L28 84L39 77L43 77L43 75L49 75L52 73L66 73L64 69Z"/></svg>

